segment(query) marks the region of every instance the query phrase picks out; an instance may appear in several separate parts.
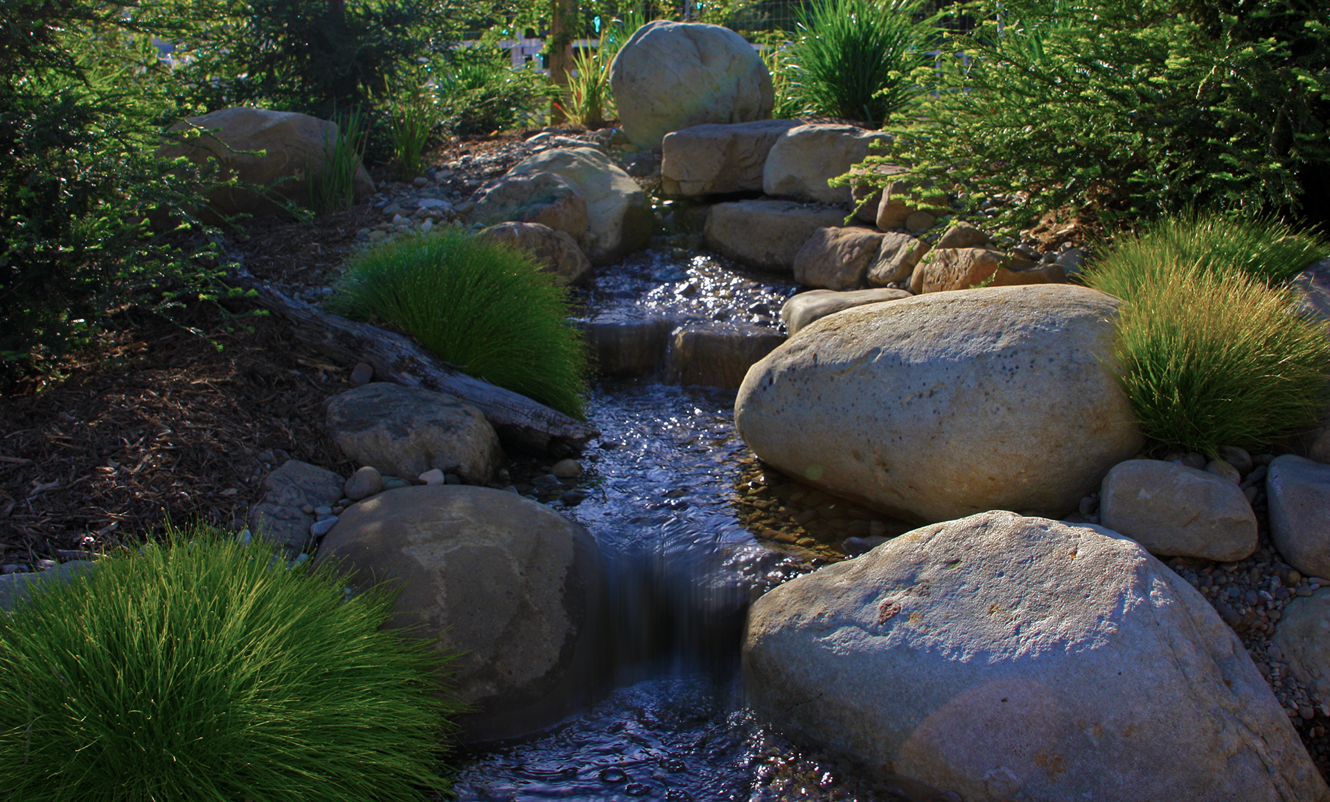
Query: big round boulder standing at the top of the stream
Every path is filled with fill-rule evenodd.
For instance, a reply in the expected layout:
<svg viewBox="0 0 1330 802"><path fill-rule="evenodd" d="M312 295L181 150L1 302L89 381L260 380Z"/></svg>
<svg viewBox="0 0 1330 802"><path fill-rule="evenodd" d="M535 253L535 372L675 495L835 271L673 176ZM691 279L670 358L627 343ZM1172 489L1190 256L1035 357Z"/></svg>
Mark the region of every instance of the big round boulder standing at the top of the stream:
<svg viewBox="0 0 1330 802"><path fill-rule="evenodd" d="M609 88L624 134L648 150L694 125L766 120L775 100L766 65L742 36L665 20L624 42L609 65Z"/></svg>

